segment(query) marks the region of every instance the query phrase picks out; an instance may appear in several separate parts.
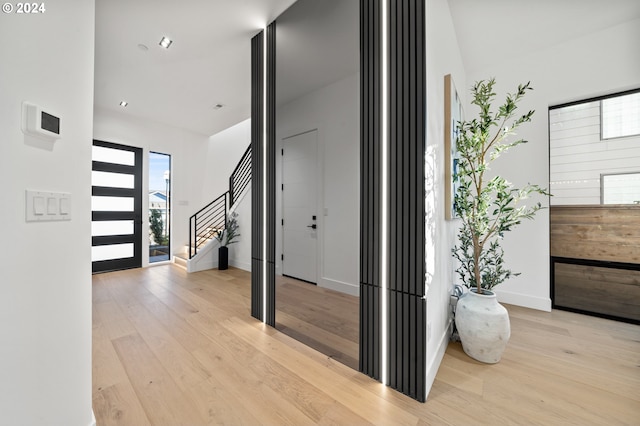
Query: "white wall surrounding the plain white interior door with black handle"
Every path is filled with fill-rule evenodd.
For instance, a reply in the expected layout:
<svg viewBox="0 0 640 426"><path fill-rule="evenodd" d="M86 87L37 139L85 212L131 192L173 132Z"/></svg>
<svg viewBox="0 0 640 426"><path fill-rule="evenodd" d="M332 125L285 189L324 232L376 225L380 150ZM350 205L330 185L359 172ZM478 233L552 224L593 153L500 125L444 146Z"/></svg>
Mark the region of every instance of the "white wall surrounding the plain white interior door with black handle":
<svg viewBox="0 0 640 426"><path fill-rule="evenodd" d="M318 252L321 287L359 294L360 105L359 73L313 91L276 111L276 152L282 139L318 129L321 193ZM282 182L276 158L276 187ZM276 191L276 217L282 218ZM276 272L281 273L281 228L276 232Z"/></svg>

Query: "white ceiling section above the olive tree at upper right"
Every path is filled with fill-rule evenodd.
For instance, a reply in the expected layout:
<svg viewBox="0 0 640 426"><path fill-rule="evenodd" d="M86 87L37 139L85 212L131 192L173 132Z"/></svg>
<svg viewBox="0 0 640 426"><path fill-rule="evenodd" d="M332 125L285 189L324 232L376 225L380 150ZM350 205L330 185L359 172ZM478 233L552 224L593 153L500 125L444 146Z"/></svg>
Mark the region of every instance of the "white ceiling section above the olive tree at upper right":
<svg viewBox="0 0 640 426"><path fill-rule="evenodd" d="M448 2L467 72L640 18L640 0Z"/></svg>

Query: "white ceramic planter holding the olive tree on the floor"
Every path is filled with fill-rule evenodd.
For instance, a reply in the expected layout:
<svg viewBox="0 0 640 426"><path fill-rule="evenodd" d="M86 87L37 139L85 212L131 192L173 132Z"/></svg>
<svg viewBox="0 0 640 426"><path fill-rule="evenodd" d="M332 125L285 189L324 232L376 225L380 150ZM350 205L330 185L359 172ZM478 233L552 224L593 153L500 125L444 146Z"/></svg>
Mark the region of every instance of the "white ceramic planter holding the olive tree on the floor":
<svg viewBox="0 0 640 426"><path fill-rule="evenodd" d="M471 358L488 364L500 361L511 335L509 313L495 293L463 294L456 306L456 327L462 349Z"/></svg>

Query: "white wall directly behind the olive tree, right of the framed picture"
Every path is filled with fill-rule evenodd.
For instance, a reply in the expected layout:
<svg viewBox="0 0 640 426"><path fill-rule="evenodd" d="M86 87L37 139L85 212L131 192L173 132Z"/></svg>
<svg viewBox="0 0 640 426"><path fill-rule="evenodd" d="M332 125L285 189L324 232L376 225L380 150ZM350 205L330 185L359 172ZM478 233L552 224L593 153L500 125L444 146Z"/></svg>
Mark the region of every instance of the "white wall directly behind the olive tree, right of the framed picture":
<svg viewBox="0 0 640 426"><path fill-rule="evenodd" d="M507 19L505 17L504 19ZM640 86L640 20L523 55L484 69L467 70L467 80L495 76L498 99L519 83L531 81L534 90L522 110L535 109L533 121L521 127L519 137L529 140L500 158L493 167L516 186L528 182L548 185L548 107ZM465 110L467 117L470 109ZM548 199L541 200L548 205ZM522 275L497 287L502 302L550 310L549 214L541 211L504 241L507 267Z"/></svg>

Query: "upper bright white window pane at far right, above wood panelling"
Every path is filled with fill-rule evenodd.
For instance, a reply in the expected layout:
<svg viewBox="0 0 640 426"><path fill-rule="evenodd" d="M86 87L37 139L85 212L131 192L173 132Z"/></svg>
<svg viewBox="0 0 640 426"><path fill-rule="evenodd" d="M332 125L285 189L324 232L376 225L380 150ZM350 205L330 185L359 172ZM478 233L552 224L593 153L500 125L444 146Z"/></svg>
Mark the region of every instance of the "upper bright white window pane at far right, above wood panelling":
<svg viewBox="0 0 640 426"><path fill-rule="evenodd" d="M602 139L640 135L640 93L602 100Z"/></svg>

